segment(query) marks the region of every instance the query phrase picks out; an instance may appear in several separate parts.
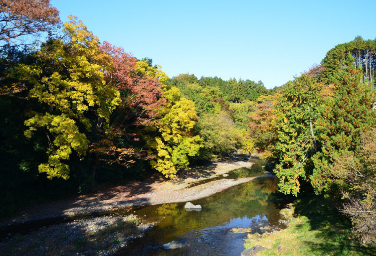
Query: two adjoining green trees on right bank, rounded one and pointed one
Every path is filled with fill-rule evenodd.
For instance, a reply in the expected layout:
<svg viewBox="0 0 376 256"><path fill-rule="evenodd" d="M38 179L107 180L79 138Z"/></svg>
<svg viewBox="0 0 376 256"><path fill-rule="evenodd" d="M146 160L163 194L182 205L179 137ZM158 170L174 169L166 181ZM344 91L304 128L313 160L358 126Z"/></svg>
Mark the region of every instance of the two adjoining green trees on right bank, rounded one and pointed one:
<svg viewBox="0 0 376 256"><path fill-rule="evenodd" d="M361 132L374 126L370 85L348 55L334 84L303 74L288 83L275 108L277 132L274 157L280 188L297 195L300 181L309 181L316 193L339 192L331 173L334 158L357 152Z"/></svg>

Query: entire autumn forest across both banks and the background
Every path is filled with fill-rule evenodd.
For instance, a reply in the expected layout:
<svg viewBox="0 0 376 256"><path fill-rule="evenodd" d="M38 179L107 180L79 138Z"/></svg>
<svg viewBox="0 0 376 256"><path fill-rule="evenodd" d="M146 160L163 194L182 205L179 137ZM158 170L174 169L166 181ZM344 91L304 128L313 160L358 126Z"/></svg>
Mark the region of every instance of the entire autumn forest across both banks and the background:
<svg viewBox="0 0 376 256"><path fill-rule="evenodd" d="M100 41L48 0L0 6L0 216L262 153L285 194L321 194L376 246L376 40L329 50L274 89L179 74ZM158 60L156 60L158 61Z"/></svg>

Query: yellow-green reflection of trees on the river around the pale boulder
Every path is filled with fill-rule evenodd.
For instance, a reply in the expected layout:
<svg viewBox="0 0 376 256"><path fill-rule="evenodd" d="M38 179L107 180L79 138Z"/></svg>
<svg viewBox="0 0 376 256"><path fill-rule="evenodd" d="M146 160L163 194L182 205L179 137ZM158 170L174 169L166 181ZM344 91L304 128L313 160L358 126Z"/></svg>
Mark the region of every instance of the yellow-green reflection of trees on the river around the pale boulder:
<svg viewBox="0 0 376 256"><path fill-rule="evenodd" d="M203 206L200 212L186 212L184 204L163 204L154 214L165 216L159 227L169 226L175 229L175 235L191 229L211 227L217 223L226 223L234 218L252 218L266 216L277 221L278 210L268 203L271 193L277 191L276 179L260 177L254 181L227 189L222 193L194 201Z"/></svg>

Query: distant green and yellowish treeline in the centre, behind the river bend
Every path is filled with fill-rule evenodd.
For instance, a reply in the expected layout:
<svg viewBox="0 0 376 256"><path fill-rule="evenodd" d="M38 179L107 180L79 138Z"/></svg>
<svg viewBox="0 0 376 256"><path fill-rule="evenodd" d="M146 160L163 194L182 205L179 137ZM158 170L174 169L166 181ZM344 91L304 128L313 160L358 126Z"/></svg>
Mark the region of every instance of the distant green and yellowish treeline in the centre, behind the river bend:
<svg viewBox="0 0 376 256"><path fill-rule="evenodd" d="M235 151L254 151L250 115L258 102L268 100L273 90L266 89L261 81L198 79L194 74L173 77L169 85L177 87L183 97L195 103L198 120L194 130L203 140L196 159L211 160Z"/></svg>

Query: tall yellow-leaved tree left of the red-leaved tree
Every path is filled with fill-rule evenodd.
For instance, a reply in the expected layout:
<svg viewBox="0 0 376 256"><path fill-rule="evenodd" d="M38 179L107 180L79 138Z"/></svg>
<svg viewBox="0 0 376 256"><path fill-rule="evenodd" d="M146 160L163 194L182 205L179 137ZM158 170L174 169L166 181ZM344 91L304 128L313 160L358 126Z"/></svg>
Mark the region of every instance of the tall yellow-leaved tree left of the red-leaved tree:
<svg viewBox="0 0 376 256"><path fill-rule="evenodd" d="M81 158L86 155L87 134L108 123L120 102L118 90L104 80L108 54L99 51L98 38L81 21L73 16L69 20L63 39L48 40L36 52L35 64L14 70L32 87L29 97L38 102L27 113L25 135L46 135L48 159L39 172L49 179L69 178L67 160L73 152Z"/></svg>

